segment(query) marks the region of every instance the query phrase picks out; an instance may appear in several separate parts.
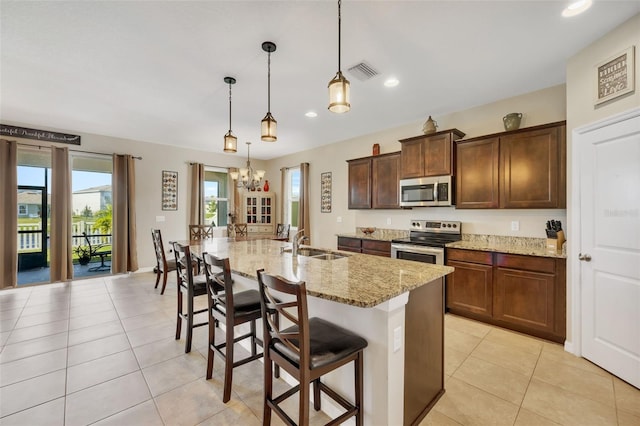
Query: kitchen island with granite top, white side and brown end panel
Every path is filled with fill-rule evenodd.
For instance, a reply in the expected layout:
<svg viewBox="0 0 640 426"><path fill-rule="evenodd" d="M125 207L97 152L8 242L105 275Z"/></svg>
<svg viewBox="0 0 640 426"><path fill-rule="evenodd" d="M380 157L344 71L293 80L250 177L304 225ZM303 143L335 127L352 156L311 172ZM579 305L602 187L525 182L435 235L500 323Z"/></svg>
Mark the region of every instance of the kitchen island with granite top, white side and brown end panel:
<svg viewBox="0 0 640 426"><path fill-rule="evenodd" d="M258 269L305 281L310 316L367 339L365 424L417 424L444 393L444 276L453 268L355 253L333 260L292 256L282 252L289 243L272 240L190 245L196 254L229 257L239 286L255 288ZM325 380L353 399L351 367ZM332 417L339 412L328 399L322 407Z"/></svg>

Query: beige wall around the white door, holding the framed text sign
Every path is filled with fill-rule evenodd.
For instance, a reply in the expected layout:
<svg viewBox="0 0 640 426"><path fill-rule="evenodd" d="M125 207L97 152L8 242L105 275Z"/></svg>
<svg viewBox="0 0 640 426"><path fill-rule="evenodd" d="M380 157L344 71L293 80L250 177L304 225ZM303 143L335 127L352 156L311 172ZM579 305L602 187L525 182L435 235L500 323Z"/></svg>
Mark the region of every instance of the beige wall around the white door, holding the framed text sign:
<svg viewBox="0 0 640 426"><path fill-rule="evenodd" d="M598 107L594 106L595 99L595 66L603 60L622 52L629 46L636 47L635 64L635 92L625 95ZM578 52L567 62L567 214L569 234L579 235L579 229L574 229L572 218L579 215L579 200L574 191L578 182L574 182L573 175L573 139L574 129L602 120L606 117L630 110L640 105L640 14L632 17L624 24L606 34ZM580 251L579 238L567 242L567 341L572 341L573 306L572 284L579 279L579 265L575 256Z"/></svg>

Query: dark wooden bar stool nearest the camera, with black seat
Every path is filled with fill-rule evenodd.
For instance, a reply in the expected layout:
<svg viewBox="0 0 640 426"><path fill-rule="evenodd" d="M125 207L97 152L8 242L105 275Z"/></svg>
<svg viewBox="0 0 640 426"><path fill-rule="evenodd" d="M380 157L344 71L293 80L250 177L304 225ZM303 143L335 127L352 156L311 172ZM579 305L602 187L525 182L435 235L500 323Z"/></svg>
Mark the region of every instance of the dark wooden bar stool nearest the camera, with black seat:
<svg viewBox="0 0 640 426"><path fill-rule="evenodd" d="M307 290L304 281L289 281L280 276L258 272L258 287L262 304L264 324L264 413L263 424L271 424L273 410L287 424L295 422L279 406L284 400L299 392L299 425L309 421L309 384L313 383L313 408L320 410L320 391L332 398L346 410L330 424L342 423L355 416L356 425L363 424L363 352L367 341L362 337L338 327L321 318L309 318L307 310ZM278 301L273 292L289 294L295 300ZM277 312L293 323L281 329L272 320ZM320 378L347 363L354 363L355 402L352 404L336 391L322 383ZM271 370L273 363L284 368L298 380L298 385L282 393L273 395Z"/></svg>

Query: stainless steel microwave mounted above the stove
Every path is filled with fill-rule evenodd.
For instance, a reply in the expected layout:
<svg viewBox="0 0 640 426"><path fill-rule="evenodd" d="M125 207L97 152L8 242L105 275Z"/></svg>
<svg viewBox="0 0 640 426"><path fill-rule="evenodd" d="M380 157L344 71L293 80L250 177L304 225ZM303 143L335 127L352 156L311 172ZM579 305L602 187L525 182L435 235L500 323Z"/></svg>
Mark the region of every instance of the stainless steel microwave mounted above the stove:
<svg viewBox="0 0 640 426"><path fill-rule="evenodd" d="M400 180L401 207L451 206L453 203L451 176Z"/></svg>

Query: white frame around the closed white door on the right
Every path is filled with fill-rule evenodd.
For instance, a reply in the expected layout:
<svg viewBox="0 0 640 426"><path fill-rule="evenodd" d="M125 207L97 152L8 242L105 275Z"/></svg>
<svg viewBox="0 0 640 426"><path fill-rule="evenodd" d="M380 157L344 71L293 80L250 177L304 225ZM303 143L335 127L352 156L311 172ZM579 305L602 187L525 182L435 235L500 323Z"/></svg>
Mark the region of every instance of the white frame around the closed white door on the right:
<svg viewBox="0 0 640 426"><path fill-rule="evenodd" d="M581 276L581 262L578 259L582 247L582 235L580 230L582 229L581 211L580 211L580 156L582 154L582 136L601 129L603 127L611 126L622 121L630 120L640 116L640 107L633 108L628 111L624 111L619 114L612 115L602 120L586 124L581 127L577 127L571 132L571 213L569 218L571 219L568 224L568 231L571 238L567 242L567 258L569 269L567 272L570 274L571 280L571 297L567 298L569 312L571 312L571 341L565 341L565 350L577 356L582 356L582 276Z"/></svg>

